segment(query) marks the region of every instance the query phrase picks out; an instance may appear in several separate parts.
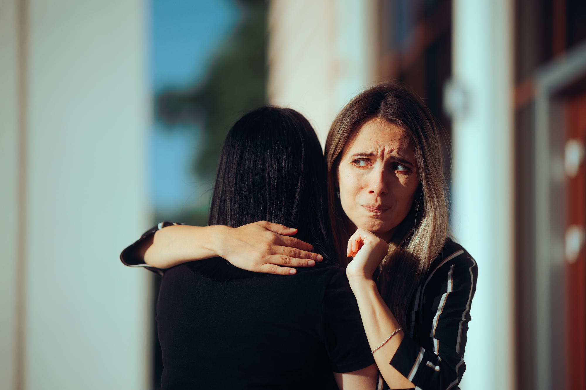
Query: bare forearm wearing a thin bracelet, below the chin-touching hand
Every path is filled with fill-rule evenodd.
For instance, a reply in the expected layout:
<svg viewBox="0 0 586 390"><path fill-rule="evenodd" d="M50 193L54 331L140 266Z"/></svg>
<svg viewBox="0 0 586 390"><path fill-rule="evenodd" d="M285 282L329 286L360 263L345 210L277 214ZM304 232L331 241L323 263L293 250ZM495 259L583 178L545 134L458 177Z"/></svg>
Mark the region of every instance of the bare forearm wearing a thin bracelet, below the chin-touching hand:
<svg viewBox="0 0 586 390"><path fill-rule="evenodd" d="M350 278L350 286L352 286L358 302L360 316L362 317L370 348L374 350L399 327L399 324L389 307L384 303L379 290L376 288L376 283L372 279ZM390 365L390 361L397 352L403 337L403 331L399 331L374 353L374 361L376 361L381 375L383 375L384 380L391 388L413 387L413 384L407 378Z"/></svg>

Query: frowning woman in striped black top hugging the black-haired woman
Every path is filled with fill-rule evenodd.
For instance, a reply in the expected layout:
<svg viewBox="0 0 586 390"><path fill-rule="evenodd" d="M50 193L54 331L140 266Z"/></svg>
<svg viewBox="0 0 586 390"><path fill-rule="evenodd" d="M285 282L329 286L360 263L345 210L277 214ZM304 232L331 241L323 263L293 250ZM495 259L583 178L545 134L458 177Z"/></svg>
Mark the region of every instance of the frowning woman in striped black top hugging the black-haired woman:
<svg viewBox="0 0 586 390"><path fill-rule="evenodd" d="M434 119L405 88L381 83L340 111L325 152L332 241L359 305L379 388L457 388L478 269L449 237ZM321 261L311 245L290 237L295 233L266 221L173 225L145 235L122 258L169 268L222 256L250 271L294 275L294 267Z"/></svg>

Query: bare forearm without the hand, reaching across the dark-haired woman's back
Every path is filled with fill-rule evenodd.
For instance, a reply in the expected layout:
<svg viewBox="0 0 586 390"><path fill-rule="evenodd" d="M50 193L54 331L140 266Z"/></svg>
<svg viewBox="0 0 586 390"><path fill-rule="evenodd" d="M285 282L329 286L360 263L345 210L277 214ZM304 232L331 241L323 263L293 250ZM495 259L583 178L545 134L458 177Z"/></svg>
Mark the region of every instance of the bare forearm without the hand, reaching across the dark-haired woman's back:
<svg viewBox="0 0 586 390"><path fill-rule="evenodd" d="M170 268L188 261L217 256L214 243L226 226L173 225L156 231L144 250L144 261L156 268Z"/></svg>

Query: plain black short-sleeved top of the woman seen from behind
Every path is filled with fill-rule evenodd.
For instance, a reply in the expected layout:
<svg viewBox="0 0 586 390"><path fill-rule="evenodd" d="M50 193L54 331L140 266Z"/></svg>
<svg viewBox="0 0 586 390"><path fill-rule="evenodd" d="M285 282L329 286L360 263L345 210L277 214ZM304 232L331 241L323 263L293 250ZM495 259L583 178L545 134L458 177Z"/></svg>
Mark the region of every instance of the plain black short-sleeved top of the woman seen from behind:
<svg viewBox="0 0 586 390"><path fill-rule="evenodd" d="M162 390L337 389L332 371L374 363L338 266L283 278L190 262L165 272L156 311Z"/></svg>

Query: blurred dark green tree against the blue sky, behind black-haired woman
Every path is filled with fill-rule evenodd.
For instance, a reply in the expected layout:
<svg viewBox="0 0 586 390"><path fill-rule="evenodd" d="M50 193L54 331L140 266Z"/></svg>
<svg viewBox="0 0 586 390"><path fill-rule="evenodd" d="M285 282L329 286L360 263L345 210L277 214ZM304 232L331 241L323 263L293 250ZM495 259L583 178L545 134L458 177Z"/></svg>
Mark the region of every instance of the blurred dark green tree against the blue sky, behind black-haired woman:
<svg viewBox="0 0 586 390"><path fill-rule="evenodd" d="M231 126L246 112L267 104L267 15L264 0L241 0L241 20L219 51L202 83L156 96L156 121L199 125L202 147L194 170L213 179L220 149ZM168 126L173 131L173 126ZM190 126L194 128L196 126ZM188 211L183 222L207 225L209 204ZM157 217L158 218L158 217ZM157 219L158 220L158 219Z"/></svg>

